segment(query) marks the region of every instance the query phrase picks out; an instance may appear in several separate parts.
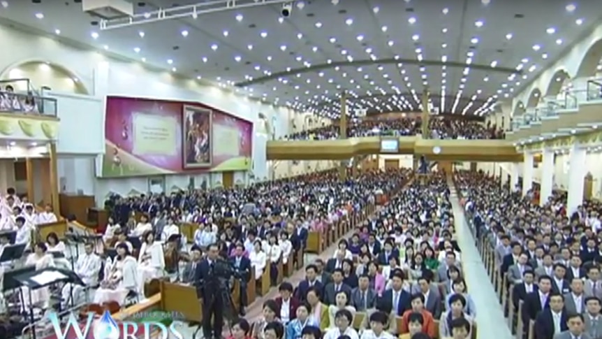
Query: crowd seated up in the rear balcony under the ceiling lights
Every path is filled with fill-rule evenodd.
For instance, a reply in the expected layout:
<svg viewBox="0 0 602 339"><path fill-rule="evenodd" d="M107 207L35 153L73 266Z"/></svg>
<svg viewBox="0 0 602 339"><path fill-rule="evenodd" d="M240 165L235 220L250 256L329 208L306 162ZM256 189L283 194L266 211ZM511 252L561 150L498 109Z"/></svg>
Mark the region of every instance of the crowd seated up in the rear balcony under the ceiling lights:
<svg viewBox="0 0 602 339"><path fill-rule="evenodd" d="M498 127L473 120L446 119L432 117L429 120L432 138L441 139L501 139L504 133ZM351 122L347 127L347 136L415 136L422 133L420 117L402 117L397 119L372 119ZM317 129L300 131L286 140L331 140L339 138L339 126L332 124Z"/></svg>

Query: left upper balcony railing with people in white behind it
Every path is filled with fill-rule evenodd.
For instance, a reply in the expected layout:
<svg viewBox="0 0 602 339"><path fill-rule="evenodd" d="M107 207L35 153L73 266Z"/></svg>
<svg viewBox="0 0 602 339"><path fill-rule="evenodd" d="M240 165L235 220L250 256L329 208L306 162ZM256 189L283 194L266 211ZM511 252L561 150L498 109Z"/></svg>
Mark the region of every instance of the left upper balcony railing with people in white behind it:
<svg viewBox="0 0 602 339"><path fill-rule="evenodd" d="M44 96L0 92L0 113L57 116L57 100Z"/></svg>

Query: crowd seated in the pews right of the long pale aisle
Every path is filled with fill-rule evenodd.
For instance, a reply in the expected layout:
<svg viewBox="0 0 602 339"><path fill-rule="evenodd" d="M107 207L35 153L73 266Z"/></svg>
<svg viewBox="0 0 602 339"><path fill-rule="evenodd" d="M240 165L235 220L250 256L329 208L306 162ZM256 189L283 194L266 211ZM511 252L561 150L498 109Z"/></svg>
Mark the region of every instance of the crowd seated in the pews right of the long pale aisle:
<svg viewBox="0 0 602 339"><path fill-rule="evenodd" d="M534 339L602 338L602 204L584 201L567 215L566 194L539 205L482 172L456 173L455 185L511 330Z"/></svg>

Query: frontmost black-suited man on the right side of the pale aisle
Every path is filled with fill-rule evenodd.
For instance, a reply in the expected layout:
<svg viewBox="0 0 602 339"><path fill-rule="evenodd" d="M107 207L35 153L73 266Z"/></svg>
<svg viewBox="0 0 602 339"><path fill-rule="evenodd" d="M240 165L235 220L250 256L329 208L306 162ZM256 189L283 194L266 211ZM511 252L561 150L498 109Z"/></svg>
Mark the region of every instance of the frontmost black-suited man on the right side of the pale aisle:
<svg viewBox="0 0 602 339"><path fill-rule="evenodd" d="M535 339L553 339L555 334L568 331L563 296L552 292L549 301L550 308L542 310L535 319Z"/></svg>

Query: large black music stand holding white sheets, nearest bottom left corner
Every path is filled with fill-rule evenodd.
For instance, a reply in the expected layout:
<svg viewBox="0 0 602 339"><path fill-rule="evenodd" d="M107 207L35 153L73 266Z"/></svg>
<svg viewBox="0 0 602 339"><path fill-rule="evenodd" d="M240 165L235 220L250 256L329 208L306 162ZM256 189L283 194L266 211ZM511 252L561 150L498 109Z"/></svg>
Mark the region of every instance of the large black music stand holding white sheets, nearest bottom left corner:
<svg viewBox="0 0 602 339"><path fill-rule="evenodd" d="M34 323L34 303L33 297L31 296L31 291L35 291L36 289L41 289L43 287L50 286L52 284L56 284L57 282L78 284L80 286L85 286L84 282L80 279L80 277L73 271L64 270L62 268L54 268L48 267L43 268L39 271L22 273L20 275L15 275L13 277L14 280L19 282L21 286L27 287L29 291L29 320L31 324ZM24 298L24 296L23 296ZM24 300L24 299L23 299ZM24 305L23 305L24 306ZM24 309L24 308L23 308ZM36 331L31 331L32 338L36 339Z"/></svg>

